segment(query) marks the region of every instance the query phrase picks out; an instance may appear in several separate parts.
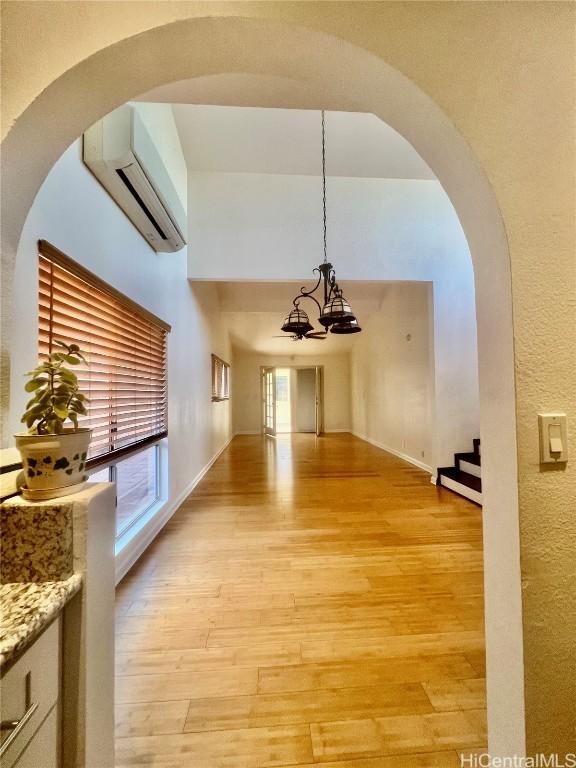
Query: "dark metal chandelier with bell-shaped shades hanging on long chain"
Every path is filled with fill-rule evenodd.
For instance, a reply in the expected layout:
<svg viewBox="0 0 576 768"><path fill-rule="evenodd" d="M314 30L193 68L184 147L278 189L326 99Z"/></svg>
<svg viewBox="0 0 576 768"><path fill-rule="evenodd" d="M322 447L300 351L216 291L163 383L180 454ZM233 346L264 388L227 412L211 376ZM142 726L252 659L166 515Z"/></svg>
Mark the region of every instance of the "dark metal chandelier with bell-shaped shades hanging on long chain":
<svg viewBox="0 0 576 768"><path fill-rule="evenodd" d="M285 333L292 334L295 340L300 339L324 339L328 332L336 334L359 333L362 329L352 312L350 304L344 298L342 289L336 282L336 273L332 264L328 262L328 249L326 246L326 130L324 124L324 110L322 110L322 209L324 213L324 261L313 272L318 273L318 282L311 290L305 286L292 302L294 309L288 314L282 325ZM322 306L314 296L322 284ZM323 331L315 331L308 314L300 307L302 299L312 299L318 307L320 317L318 322L323 326Z"/></svg>

